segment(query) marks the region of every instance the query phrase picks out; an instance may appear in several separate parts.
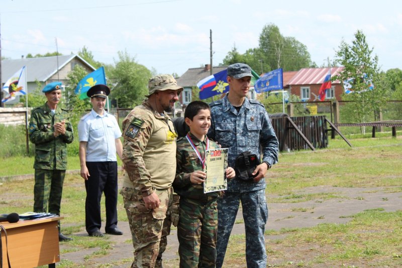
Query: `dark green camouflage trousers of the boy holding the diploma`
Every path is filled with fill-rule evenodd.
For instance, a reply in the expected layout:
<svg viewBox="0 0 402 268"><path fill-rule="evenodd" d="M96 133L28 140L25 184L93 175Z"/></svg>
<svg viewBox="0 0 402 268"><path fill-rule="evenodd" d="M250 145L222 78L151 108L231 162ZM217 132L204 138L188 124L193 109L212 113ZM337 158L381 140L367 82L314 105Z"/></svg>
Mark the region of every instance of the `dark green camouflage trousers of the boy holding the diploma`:
<svg viewBox="0 0 402 268"><path fill-rule="evenodd" d="M207 203L180 199L177 225L180 267L215 267L218 228L217 198Z"/></svg>

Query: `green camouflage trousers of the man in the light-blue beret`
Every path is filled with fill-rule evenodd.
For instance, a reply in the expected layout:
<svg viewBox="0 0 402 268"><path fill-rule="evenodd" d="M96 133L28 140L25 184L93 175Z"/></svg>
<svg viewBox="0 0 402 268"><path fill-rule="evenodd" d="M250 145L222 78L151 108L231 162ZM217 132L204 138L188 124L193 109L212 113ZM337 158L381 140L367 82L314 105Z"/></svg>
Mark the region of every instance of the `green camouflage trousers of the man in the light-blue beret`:
<svg viewBox="0 0 402 268"><path fill-rule="evenodd" d="M35 168L34 212L60 215L65 170ZM60 232L60 221L58 222Z"/></svg>

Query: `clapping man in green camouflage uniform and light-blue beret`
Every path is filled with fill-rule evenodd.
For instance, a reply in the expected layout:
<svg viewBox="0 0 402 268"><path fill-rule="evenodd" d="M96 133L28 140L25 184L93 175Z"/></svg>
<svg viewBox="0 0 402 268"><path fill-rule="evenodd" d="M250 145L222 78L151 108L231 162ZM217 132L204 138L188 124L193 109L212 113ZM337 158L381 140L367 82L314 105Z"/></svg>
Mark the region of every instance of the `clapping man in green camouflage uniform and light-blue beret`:
<svg viewBox="0 0 402 268"><path fill-rule="evenodd" d="M35 144L34 212L60 215L64 175L67 168L67 143L73 140L67 110L58 104L61 82L47 84L43 90L47 102L31 113L29 139ZM59 241L71 240L60 232Z"/></svg>

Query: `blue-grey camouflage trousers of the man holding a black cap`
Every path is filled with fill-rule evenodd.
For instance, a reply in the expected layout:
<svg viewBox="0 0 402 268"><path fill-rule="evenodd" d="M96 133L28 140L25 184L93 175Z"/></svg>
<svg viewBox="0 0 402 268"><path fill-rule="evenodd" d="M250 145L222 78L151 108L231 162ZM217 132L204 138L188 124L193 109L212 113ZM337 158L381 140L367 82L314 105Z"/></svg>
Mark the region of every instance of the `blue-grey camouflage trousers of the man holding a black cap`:
<svg viewBox="0 0 402 268"><path fill-rule="evenodd" d="M268 207L265 189L243 193L226 191L225 195L218 199L217 267L222 267L240 201L246 231L247 267L266 267L264 232Z"/></svg>

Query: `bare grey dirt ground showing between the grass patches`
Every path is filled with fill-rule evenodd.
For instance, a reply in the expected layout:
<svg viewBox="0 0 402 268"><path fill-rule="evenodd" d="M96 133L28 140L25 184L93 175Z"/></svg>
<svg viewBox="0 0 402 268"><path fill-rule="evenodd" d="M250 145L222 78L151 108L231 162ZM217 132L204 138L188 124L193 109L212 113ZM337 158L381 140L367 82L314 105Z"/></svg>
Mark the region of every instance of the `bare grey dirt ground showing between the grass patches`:
<svg viewBox="0 0 402 268"><path fill-rule="evenodd" d="M389 189L388 189L389 190ZM320 223L346 223L351 218L345 217L362 212L366 209L383 208L386 212L400 210L401 197L400 192L390 193L384 191L383 188L339 188L339 187L311 187L303 189L296 194L315 194L315 193L332 193L339 196L329 200L311 200L298 203L268 203L269 219L265 226L266 230L280 230L281 228L296 228L296 227L312 227ZM268 194L269 195L269 194ZM276 198L277 196L270 196ZM306 212L297 211L298 208L307 208ZM292 211L292 209L295 209ZM237 215L238 219L242 219L241 209ZM109 254L104 257L96 257L85 260L84 257L98 251L99 248L90 248L77 252L62 253L62 260L70 260L75 265L84 267L98 267L103 263L118 262L123 259L133 257L133 246L128 240L131 239L128 222L119 222L119 228L124 232L124 235L113 236L107 235L108 239L114 241L114 247L109 250ZM235 224L232 234L244 233L244 224ZM86 236L85 230L74 233L75 236ZM268 235L266 238L267 246L272 240L280 239L277 235ZM68 242L60 244L60 249L68 250L70 248ZM168 237L168 247L163 255L165 260L178 259L177 255L178 242L176 231L172 230ZM289 252L290 253L290 252ZM294 256L286 256L286 259L270 259L268 254L268 262L270 266L280 265L285 261L291 260ZM230 263L225 263L228 265ZM113 267L128 267L129 264L119 264ZM168 266L169 265L165 265ZM246 265L244 265L245 267ZM102 266L105 267L105 266ZM112 267L112 266L107 266ZM325 266L323 266L325 267Z"/></svg>

